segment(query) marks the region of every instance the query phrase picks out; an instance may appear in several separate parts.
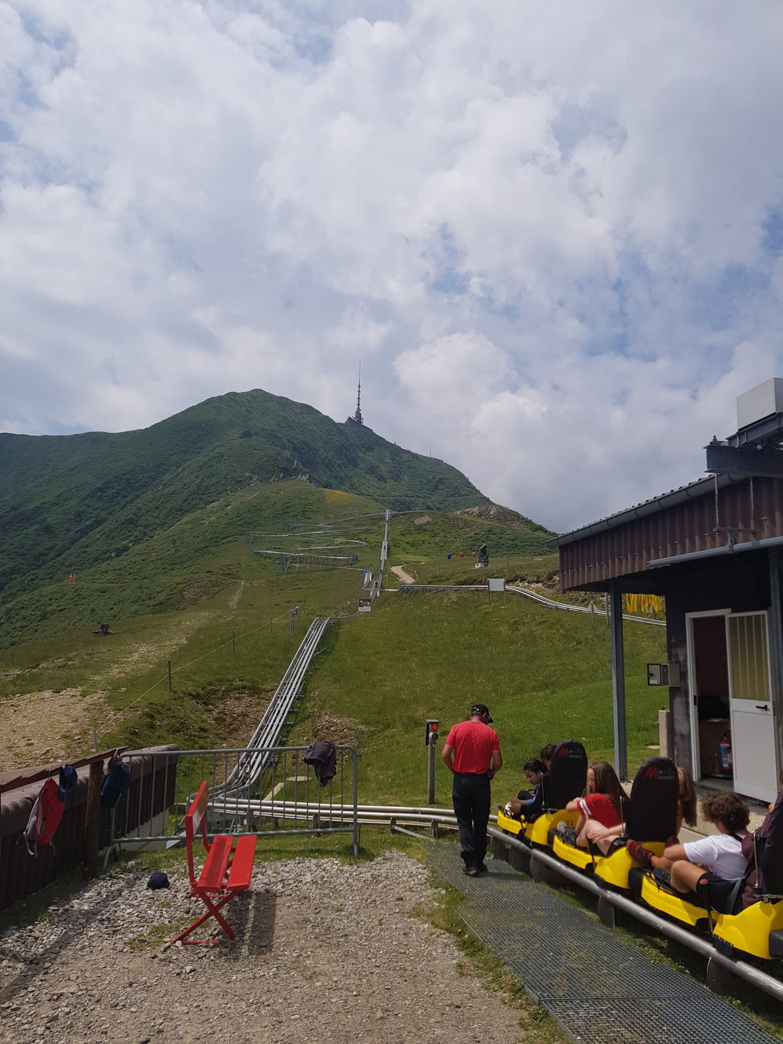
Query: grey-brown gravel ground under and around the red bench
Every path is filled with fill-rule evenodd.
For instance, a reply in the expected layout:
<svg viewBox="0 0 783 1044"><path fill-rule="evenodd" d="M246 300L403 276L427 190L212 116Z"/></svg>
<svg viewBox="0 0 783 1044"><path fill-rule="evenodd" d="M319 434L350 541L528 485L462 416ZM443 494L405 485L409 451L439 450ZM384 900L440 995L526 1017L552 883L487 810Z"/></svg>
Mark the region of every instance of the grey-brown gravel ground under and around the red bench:
<svg viewBox="0 0 783 1044"><path fill-rule="evenodd" d="M519 1013L460 974L452 936L411 916L436 893L399 852L257 862L253 892L227 907L236 942L212 946L164 942L201 909L169 878L152 893L146 876L115 872L0 936L0 1041L520 1038Z"/></svg>

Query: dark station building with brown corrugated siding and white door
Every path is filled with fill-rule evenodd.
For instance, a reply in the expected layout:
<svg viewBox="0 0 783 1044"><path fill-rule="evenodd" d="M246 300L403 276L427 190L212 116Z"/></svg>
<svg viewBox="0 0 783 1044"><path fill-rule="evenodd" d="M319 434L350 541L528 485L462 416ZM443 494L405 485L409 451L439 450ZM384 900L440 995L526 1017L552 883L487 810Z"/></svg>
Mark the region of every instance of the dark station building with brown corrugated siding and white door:
<svg viewBox="0 0 783 1044"><path fill-rule="evenodd" d="M783 722L783 380L737 400L707 477L563 533L563 591L609 595L615 763L627 777L622 595L666 599L668 746L705 786L774 801ZM730 743L732 768L722 768Z"/></svg>

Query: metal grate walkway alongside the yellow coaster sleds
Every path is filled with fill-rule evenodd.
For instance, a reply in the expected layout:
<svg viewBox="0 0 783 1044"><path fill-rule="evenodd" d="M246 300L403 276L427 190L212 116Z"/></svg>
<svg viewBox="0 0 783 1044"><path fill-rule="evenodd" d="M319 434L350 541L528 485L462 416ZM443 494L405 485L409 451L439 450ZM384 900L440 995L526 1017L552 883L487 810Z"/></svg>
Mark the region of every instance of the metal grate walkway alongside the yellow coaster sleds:
<svg viewBox="0 0 783 1044"><path fill-rule="evenodd" d="M470 900L461 916L579 1044L780 1044L706 987L497 859L466 877L456 845L432 867Z"/></svg>

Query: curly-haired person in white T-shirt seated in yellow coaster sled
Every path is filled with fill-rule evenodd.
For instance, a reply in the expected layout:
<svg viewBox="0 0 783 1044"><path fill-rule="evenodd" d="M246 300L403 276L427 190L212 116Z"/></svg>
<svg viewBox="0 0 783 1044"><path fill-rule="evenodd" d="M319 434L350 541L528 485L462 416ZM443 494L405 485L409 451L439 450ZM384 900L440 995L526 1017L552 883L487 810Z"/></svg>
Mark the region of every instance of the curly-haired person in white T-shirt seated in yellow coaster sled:
<svg viewBox="0 0 783 1044"><path fill-rule="evenodd" d="M741 905L737 884L748 872L742 838L748 834L751 813L739 794L717 790L703 799L702 815L714 823L717 833L666 848L671 886L683 895L695 893L703 905L731 914ZM729 905L732 909L727 909Z"/></svg>

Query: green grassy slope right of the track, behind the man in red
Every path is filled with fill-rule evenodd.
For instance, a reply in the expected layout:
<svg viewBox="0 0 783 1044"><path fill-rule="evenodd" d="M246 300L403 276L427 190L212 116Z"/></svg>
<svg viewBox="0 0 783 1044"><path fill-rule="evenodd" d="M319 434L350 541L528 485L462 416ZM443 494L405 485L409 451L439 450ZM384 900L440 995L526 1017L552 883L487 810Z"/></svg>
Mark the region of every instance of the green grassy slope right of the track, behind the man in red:
<svg viewBox="0 0 783 1044"><path fill-rule="evenodd" d="M661 694L644 665L664 651L664 631L626 625L628 757L636 766L656 743ZM541 609L512 595L492 606L472 592L387 594L372 614L341 624L317 675L317 699L366 727L365 801L423 803L424 720L444 729L476 699L490 705L505 765L504 800L524 784L522 765L545 742L575 737L591 757L612 760L609 628L601 619ZM449 778L438 765L438 798Z"/></svg>

